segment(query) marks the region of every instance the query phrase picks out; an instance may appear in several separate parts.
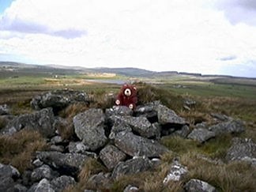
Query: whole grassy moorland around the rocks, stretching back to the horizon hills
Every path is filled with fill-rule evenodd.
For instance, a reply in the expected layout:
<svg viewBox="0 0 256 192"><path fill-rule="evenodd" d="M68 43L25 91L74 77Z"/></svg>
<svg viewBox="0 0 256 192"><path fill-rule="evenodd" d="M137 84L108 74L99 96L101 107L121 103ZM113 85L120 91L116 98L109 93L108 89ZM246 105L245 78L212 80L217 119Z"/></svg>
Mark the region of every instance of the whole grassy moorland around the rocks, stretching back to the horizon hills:
<svg viewBox="0 0 256 192"><path fill-rule="evenodd" d="M200 126L206 130L227 119L239 119L245 130L224 132L198 141L187 135L184 137L169 133L170 130L168 133L163 132L166 128L163 124L163 133L158 141L170 151L160 155L160 164L155 168L122 175L107 180L107 184L98 183L99 187L96 181L92 182L92 176L107 174L109 170L99 157L90 158L77 175L73 175L76 183L65 191L122 191L128 185L136 186L139 191L183 191L190 179L201 179L218 191L256 191L256 79L175 71L157 73L134 68L86 69L0 62L0 105L6 104L10 115L32 114L36 111L31 107L32 98L45 92L85 92L90 98L89 104L70 104L55 111L55 116L66 119L69 125L58 130L62 140L77 141L73 136L73 117L91 108L101 108L107 113L124 82L137 86L139 106L148 106L150 102L159 100L160 104L186 120L189 133ZM5 117L0 115L1 130L8 124ZM253 147L247 153L252 161L227 160L227 154L237 137L252 143ZM35 165L31 161L36 158L36 151L49 148L47 139L37 131L24 129L10 136L1 135L0 163L13 165L20 171L22 178L28 174L28 170L33 170ZM239 151L239 148L236 149ZM98 156L99 150L89 151ZM130 154L127 156L126 161L132 158ZM188 173L179 181L163 184L176 159L186 167ZM24 179L21 184L30 187L30 183L24 183Z"/></svg>

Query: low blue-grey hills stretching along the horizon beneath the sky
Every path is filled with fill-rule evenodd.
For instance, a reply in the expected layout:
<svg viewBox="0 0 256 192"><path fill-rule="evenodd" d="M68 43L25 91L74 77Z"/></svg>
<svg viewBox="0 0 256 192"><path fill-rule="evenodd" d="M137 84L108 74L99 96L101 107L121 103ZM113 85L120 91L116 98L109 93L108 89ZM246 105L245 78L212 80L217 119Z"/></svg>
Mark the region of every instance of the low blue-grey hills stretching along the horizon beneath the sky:
<svg viewBox="0 0 256 192"><path fill-rule="evenodd" d="M246 77L232 77L225 75L202 75L201 73L185 73L177 71L163 71L156 72L151 70L143 70L133 67L124 67L124 68L107 68L107 67L97 67L97 68L85 68L81 66L58 66L58 65L33 65L33 64L24 64L19 62L0 62L0 75L1 77L6 77L8 74L17 74L20 75L67 75L67 74L77 74L77 73L116 73L118 75L127 76L127 77L194 77L194 80L198 81L213 81L217 83L225 83L228 81L235 80L235 84L238 84L239 81L250 80L254 84L256 78L246 78Z"/></svg>

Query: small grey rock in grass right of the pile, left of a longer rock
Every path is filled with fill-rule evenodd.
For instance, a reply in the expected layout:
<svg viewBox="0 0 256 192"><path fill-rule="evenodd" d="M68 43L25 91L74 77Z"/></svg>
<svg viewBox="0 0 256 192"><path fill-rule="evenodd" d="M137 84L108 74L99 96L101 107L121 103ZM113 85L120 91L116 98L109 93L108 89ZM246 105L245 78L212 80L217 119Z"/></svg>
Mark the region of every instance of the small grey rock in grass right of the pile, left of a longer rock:
<svg viewBox="0 0 256 192"><path fill-rule="evenodd" d="M209 131L201 128L192 130L192 132L187 136L187 138L193 139L195 141L199 141L201 143L213 137L215 137L215 134L213 131Z"/></svg>

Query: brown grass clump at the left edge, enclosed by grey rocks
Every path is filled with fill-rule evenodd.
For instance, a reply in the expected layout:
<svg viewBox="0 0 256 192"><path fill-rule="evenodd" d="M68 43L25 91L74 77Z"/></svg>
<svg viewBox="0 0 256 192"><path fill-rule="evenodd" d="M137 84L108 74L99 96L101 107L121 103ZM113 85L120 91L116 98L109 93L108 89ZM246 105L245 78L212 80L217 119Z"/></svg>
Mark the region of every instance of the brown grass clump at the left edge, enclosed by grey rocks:
<svg viewBox="0 0 256 192"><path fill-rule="evenodd" d="M0 136L0 162L12 164L21 172L31 168L34 153L43 149L47 149L46 141L33 130L21 130L13 136Z"/></svg>

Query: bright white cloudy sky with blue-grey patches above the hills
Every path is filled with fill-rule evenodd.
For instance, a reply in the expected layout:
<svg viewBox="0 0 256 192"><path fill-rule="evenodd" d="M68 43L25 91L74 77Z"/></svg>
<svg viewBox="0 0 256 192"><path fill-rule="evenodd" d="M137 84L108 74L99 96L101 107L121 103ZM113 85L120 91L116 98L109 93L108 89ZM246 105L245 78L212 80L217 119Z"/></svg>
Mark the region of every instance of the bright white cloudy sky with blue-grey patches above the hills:
<svg viewBox="0 0 256 192"><path fill-rule="evenodd" d="M0 0L0 61L256 77L256 1Z"/></svg>

